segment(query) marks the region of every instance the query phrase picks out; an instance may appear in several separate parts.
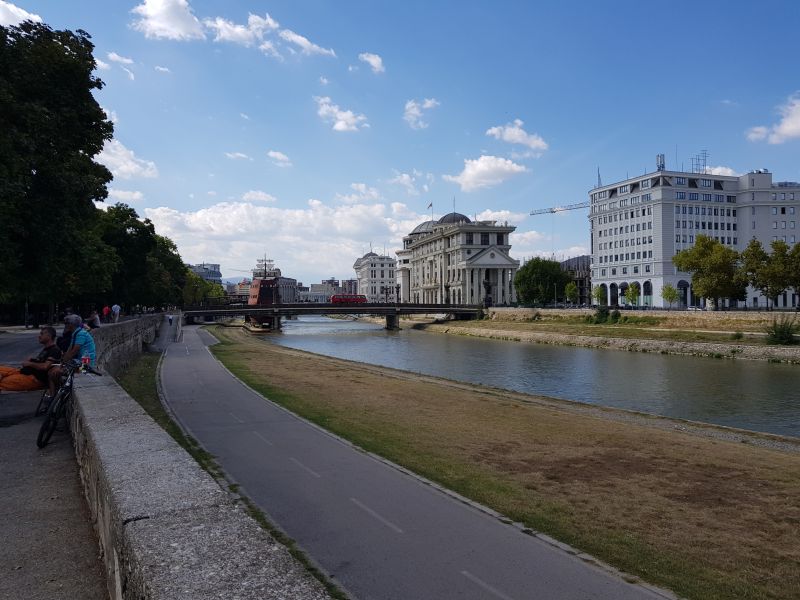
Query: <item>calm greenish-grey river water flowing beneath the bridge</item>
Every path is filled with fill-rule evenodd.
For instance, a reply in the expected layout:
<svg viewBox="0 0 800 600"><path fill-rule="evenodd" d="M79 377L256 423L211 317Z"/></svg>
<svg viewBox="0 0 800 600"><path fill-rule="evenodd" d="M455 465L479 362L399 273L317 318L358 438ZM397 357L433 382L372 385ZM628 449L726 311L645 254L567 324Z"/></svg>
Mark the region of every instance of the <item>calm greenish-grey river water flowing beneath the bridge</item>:
<svg viewBox="0 0 800 600"><path fill-rule="evenodd" d="M468 338L325 317L275 344L527 394L800 437L800 366Z"/></svg>

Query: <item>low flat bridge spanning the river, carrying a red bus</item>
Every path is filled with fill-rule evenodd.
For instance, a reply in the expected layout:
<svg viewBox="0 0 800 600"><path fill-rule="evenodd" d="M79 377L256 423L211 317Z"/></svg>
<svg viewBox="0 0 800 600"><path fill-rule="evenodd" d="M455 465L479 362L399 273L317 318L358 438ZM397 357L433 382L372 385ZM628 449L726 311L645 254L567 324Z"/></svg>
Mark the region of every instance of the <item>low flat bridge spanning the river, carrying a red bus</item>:
<svg viewBox="0 0 800 600"><path fill-rule="evenodd" d="M333 304L301 302L296 304L208 304L186 306L183 316L186 323L196 319L247 316L251 321L266 324L277 331L281 317L299 315L371 315L386 318L386 329L399 329L401 315L448 314L456 320L477 319L483 307L472 304Z"/></svg>

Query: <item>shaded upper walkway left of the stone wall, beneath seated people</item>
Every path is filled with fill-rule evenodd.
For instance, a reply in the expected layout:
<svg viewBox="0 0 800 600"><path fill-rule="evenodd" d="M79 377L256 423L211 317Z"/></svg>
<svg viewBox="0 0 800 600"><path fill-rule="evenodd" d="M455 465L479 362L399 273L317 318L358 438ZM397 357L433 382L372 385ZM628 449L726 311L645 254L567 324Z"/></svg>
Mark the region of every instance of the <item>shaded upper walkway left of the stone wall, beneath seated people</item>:
<svg viewBox="0 0 800 600"><path fill-rule="evenodd" d="M38 330L0 333L0 363L36 354ZM0 393L0 598L107 598L71 438L36 447L39 392Z"/></svg>

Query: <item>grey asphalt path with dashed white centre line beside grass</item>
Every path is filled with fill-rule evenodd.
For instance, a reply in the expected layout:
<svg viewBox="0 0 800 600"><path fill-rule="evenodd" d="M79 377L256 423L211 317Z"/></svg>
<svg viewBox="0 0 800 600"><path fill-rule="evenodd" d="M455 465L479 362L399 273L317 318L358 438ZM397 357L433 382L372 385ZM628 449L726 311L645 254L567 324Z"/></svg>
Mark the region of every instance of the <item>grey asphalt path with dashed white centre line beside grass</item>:
<svg viewBox="0 0 800 600"><path fill-rule="evenodd" d="M196 327L170 345L166 399L273 522L352 596L639 600L624 582L320 431L251 392Z"/></svg>

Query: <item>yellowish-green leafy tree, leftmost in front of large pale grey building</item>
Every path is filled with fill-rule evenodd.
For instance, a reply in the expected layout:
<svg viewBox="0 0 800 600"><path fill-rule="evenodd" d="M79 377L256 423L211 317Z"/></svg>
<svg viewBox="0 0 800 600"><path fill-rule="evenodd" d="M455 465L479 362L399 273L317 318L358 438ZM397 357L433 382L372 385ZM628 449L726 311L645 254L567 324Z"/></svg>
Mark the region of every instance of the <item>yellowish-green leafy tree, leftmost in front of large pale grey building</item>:
<svg viewBox="0 0 800 600"><path fill-rule="evenodd" d="M739 254L707 235L698 235L692 248L672 258L675 266L692 274L692 287L699 296L719 306L721 298L743 300L747 277L739 268Z"/></svg>

